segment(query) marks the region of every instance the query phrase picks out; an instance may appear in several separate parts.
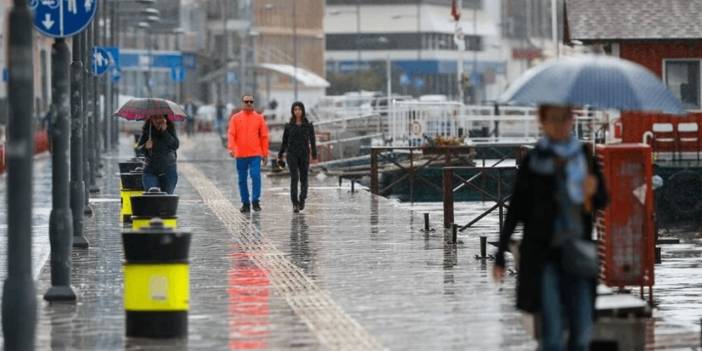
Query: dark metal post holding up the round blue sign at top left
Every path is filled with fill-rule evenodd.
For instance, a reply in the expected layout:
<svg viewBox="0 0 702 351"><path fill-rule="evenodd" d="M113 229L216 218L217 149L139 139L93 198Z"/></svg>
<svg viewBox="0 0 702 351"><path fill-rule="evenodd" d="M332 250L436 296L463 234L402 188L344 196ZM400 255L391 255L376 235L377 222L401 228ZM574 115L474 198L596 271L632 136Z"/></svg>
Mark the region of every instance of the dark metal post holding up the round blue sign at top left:
<svg viewBox="0 0 702 351"><path fill-rule="evenodd" d="M71 287L71 247L73 246L73 216L68 200L68 114L70 111L68 44L66 39L54 40L51 50L51 90L54 113L51 119L51 215L49 241L51 243L51 288L44 300L75 301Z"/></svg>

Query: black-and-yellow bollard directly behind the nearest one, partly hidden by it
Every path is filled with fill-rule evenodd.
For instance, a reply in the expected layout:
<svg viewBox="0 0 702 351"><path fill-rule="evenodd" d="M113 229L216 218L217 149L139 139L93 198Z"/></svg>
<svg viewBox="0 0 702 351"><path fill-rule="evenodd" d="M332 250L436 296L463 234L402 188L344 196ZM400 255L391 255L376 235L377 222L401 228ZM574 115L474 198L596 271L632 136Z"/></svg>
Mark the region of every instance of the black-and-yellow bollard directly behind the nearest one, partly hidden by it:
<svg viewBox="0 0 702 351"><path fill-rule="evenodd" d="M132 229L148 227L152 218L160 218L163 226L175 229L178 226L178 195L170 195L159 188L151 188L143 194L131 197Z"/></svg>

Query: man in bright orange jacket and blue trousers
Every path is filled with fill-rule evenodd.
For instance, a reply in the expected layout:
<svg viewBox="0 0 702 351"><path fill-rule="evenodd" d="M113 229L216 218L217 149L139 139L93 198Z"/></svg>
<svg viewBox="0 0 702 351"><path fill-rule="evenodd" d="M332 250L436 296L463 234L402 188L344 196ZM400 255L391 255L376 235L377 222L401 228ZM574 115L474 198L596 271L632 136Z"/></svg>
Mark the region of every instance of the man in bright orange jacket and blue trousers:
<svg viewBox="0 0 702 351"><path fill-rule="evenodd" d="M228 149L236 158L239 174L239 194L243 204L241 213L261 210L261 164L268 158L268 127L263 116L254 111L254 98L245 95L241 98L241 112L229 119ZM253 183L251 203L249 203L248 175Z"/></svg>

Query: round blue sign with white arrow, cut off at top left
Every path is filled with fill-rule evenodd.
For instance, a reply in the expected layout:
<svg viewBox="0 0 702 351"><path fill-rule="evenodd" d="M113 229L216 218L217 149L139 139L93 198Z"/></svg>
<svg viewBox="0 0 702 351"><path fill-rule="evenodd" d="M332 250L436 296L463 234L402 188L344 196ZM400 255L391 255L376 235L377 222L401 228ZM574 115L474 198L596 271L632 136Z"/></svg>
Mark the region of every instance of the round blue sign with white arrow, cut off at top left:
<svg viewBox="0 0 702 351"><path fill-rule="evenodd" d="M97 0L28 0L34 28L52 38L80 33L95 16Z"/></svg>

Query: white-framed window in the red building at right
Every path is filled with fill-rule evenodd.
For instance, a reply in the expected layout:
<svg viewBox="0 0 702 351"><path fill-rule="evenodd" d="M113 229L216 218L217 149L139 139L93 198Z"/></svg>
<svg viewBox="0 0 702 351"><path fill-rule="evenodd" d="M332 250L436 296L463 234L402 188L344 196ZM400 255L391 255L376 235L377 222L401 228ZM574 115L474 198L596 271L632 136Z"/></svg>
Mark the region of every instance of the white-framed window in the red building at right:
<svg viewBox="0 0 702 351"><path fill-rule="evenodd" d="M666 61L665 82L685 108L700 108L700 61Z"/></svg>

